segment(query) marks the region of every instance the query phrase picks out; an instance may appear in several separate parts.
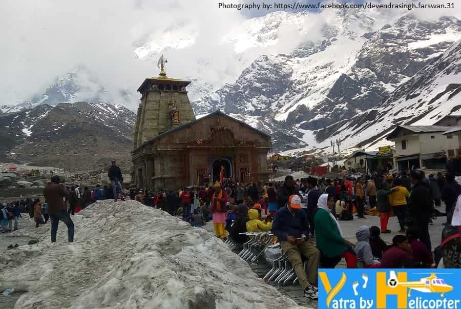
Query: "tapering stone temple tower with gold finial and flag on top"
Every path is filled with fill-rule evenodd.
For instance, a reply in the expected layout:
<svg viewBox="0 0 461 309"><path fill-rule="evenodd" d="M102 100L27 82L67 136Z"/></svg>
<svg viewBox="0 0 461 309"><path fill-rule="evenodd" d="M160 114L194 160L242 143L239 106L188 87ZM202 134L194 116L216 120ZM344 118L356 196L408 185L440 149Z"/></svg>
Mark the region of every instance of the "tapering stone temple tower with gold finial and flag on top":
<svg viewBox="0 0 461 309"><path fill-rule="evenodd" d="M133 130L133 150L145 141L195 120L186 87L191 82L166 76L163 55L158 77L146 78L138 89L141 103Z"/></svg>

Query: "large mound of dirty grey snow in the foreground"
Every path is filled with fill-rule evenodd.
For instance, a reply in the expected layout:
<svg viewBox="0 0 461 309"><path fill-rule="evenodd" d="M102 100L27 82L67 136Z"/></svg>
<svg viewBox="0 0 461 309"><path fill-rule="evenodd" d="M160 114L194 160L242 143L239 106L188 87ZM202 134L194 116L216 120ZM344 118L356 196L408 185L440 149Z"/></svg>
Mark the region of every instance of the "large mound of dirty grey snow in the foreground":
<svg viewBox="0 0 461 309"><path fill-rule="evenodd" d="M215 236L136 201L98 201L60 222L14 233L40 242L0 254L0 289L16 308L301 308Z"/></svg>

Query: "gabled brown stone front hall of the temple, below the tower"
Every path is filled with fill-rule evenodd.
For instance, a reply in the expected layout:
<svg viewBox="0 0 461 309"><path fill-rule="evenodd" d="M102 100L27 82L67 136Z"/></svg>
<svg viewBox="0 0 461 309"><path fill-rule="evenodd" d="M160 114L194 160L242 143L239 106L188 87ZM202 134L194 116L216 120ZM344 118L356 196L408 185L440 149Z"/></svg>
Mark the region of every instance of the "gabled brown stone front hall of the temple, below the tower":
<svg viewBox="0 0 461 309"><path fill-rule="evenodd" d="M134 175L138 178L138 169L142 169L146 190L177 190L198 185L198 170L205 171L205 178L213 177L212 161L230 157L234 179L239 179L243 169L249 174L245 182L252 178L266 181L270 145L268 136L230 117L213 115L157 137L133 151ZM136 183L138 186L139 179Z"/></svg>

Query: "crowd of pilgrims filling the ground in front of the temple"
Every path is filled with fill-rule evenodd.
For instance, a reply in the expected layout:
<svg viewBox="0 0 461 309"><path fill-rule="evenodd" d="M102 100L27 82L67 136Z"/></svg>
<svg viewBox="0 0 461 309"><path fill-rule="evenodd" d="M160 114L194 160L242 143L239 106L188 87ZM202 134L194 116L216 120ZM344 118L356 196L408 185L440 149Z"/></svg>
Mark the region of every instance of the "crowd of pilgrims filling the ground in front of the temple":
<svg viewBox="0 0 461 309"><path fill-rule="evenodd" d="M147 206L182 216L193 226L213 221L215 234L243 244L244 232L271 231L306 288L315 297L317 269L335 267L344 258L347 267L461 267L461 185L451 174L429 175L422 171L374 174L363 178L325 179L308 177L284 182L241 184L224 179L213 186L185 187L159 192L131 189L123 192L99 185L93 190L67 187L69 214L101 199L133 199ZM441 208L442 201L445 209ZM441 209L443 211L441 211ZM4 203L0 209L2 233L19 228L19 218L28 213L36 226L46 224L47 201L27 198ZM355 216L354 216L355 214ZM344 238L340 221L379 215L380 226L358 225L357 242ZM389 218L399 222L399 234L388 244L381 233L392 233ZM442 244L432 250L429 225L445 217ZM435 240L438 244L439 241ZM308 260L308 273L300 263ZM309 283L310 282L310 283ZM312 284L311 284L312 283Z"/></svg>

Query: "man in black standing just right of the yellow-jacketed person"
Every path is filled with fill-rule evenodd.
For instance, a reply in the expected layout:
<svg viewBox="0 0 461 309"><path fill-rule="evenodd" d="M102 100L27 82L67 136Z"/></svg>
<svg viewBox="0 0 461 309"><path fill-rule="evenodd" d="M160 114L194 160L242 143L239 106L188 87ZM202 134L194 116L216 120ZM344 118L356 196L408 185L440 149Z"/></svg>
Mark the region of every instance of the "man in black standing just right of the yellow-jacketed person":
<svg viewBox="0 0 461 309"><path fill-rule="evenodd" d="M432 251L431 238L429 236L429 221L432 216L432 197L428 184L423 182L420 171L411 171L410 181L413 189L408 202L410 215L413 217L413 225L420 231L420 240L429 251Z"/></svg>

